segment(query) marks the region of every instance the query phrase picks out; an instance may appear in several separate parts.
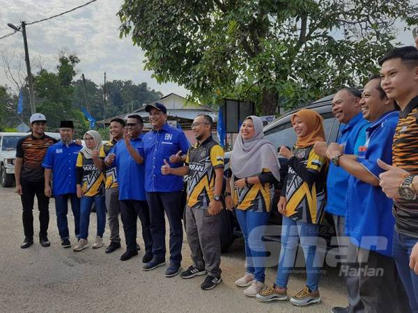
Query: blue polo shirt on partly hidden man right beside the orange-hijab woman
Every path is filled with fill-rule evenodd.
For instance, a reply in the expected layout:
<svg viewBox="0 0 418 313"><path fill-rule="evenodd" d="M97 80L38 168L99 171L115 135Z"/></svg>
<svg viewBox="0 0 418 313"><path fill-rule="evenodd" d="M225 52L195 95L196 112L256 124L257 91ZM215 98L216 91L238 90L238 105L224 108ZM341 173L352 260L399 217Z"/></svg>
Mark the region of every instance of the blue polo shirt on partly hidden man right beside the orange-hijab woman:
<svg viewBox="0 0 418 313"><path fill-rule="evenodd" d="M336 141L345 145L344 154L356 154L359 146L366 142L366 128L369 122L364 120L362 113L358 113L347 124L341 125L339 138ZM330 162L327 176L327 205L325 211L338 216L346 215L346 192L350 174L339 166Z"/></svg>

